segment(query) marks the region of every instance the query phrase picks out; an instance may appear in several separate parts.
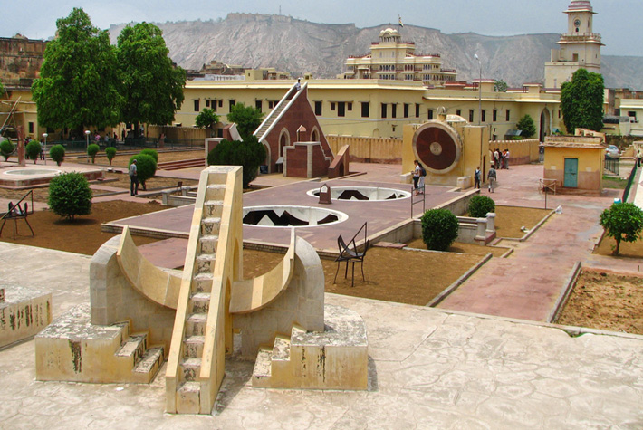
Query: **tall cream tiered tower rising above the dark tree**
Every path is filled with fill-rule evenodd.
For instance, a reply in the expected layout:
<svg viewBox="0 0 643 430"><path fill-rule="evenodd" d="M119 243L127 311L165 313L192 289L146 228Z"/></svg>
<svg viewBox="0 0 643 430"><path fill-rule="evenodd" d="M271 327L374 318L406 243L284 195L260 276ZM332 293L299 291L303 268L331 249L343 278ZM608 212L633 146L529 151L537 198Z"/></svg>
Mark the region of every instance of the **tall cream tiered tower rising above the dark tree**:
<svg viewBox="0 0 643 430"><path fill-rule="evenodd" d="M567 14L567 33L561 34L560 49L552 49L552 61L545 62L545 88L561 88L579 69L600 73L600 34L593 33L596 14L589 0L572 0Z"/></svg>

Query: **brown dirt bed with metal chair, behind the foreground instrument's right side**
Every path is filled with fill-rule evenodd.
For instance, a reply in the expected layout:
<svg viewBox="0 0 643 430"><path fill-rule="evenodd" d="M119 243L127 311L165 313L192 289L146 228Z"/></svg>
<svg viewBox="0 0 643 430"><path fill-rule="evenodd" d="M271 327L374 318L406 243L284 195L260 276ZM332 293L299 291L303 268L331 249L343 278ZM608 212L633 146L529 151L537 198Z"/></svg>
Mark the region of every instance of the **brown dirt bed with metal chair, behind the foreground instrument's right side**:
<svg viewBox="0 0 643 430"><path fill-rule="evenodd" d="M244 250L244 277L267 272L281 259L282 254ZM344 278L346 264L341 263L337 283L333 283L337 263L322 260L322 265L326 292L425 306L480 259L480 255L475 254L374 247L369 249L364 262L366 281L362 281L360 264L355 264L354 287L350 286L352 264L348 277Z"/></svg>

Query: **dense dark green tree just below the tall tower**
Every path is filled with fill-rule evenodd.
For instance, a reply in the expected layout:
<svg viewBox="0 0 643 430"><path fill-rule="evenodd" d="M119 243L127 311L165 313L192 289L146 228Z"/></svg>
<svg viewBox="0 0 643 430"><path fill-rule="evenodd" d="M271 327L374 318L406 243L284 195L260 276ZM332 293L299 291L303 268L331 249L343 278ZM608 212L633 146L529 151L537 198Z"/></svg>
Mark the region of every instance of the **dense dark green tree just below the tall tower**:
<svg viewBox="0 0 643 430"><path fill-rule="evenodd" d="M561 86L561 110L568 133L575 129L603 128L603 97L605 83L600 73L579 69L571 81Z"/></svg>

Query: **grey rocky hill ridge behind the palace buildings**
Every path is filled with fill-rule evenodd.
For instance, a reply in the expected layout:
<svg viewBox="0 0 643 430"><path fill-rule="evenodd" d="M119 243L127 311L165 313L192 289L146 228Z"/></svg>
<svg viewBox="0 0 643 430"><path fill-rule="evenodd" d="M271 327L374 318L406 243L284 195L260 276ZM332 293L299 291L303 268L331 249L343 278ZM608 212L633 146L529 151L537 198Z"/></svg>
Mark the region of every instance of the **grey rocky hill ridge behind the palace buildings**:
<svg viewBox="0 0 643 430"><path fill-rule="evenodd" d="M344 60L349 55L368 53L370 43L389 26L357 28L354 24L316 24L266 14L228 14L219 21L157 25L163 30L172 60L186 69L198 70L216 59L245 67L274 67L293 76L312 72L319 78L343 72ZM122 27L110 28L114 43ZM440 53L443 67L456 69L459 80L477 78L477 53L483 78L503 79L510 86L542 82L544 62L559 39L559 34L553 33L505 37L445 34L413 25L398 30L403 40L416 43L417 53ZM643 57L604 55L602 65L608 87L643 89Z"/></svg>

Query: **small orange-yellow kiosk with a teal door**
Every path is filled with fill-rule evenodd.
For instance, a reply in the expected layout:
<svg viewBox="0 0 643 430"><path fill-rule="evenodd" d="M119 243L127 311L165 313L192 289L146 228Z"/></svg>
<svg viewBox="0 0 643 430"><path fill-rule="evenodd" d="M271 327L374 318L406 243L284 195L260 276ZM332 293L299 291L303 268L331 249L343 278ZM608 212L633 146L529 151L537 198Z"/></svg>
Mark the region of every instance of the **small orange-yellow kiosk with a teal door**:
<svg viewBox="0 0 643 430"><path fill-rule="evenodd" d="M545 138L543 181L556 193L600 195L605 164L604 139L586 136Z"/></svg>

